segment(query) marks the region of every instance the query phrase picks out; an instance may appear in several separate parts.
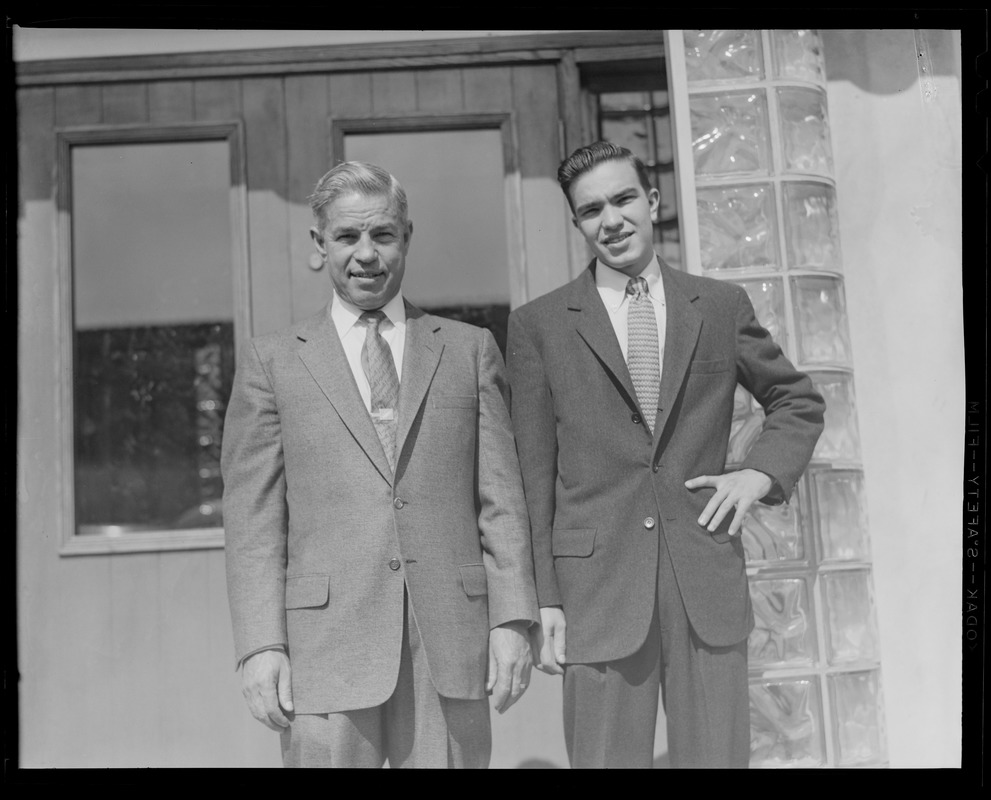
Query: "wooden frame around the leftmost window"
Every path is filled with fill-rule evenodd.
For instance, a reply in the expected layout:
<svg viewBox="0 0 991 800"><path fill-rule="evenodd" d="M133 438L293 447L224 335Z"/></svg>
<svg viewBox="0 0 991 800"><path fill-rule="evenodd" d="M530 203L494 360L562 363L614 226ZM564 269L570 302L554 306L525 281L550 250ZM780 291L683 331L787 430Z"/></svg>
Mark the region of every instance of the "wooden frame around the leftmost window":
<svg viewBox="0 0 991 800"><path fill-rule="evenodd" d="M174 144L224 141L230 158L231 280L234 301L234 341L251 335L248 258L248 197L244 132L240 120L177 125L77 126L56 128L56 244L57 244L57 421L60 457L58 487L59 555L99 555L169 550L222 549L223 528L152 530L141 533L77 533L75 497L75 413L73 397L75 318L72 263L73 148L100 145Z"/></svg>

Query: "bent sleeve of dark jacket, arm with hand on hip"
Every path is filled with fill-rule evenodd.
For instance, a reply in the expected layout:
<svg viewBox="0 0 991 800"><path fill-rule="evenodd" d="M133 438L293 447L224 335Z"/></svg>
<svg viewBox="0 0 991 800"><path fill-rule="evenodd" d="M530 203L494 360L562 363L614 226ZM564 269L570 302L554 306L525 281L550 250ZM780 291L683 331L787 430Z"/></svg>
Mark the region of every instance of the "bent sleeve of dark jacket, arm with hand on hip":
<svg viewBox="0 0 991 800"><path fill-rule="evenodd" d="M808 466L823 429L826 405L812 380L799 372L761 327L744 289L737 295L737 378L764 409L764 426L742 469L776 482L765 503L784 502Z"/></svg>

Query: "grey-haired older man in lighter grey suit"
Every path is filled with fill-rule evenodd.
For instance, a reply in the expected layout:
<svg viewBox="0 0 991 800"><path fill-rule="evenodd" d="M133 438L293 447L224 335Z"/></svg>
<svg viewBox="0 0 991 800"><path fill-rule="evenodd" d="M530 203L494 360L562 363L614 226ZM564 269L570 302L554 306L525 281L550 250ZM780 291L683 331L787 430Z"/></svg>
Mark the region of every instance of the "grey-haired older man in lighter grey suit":
<svg viewBox="0 0 991 800"><path fill-rule="evenodd" d="M484 767L538 614L501 356L404 302L393 176L340 164L310 199L333 297L241 349L225 422L244 694L287 766Z"/></svg>

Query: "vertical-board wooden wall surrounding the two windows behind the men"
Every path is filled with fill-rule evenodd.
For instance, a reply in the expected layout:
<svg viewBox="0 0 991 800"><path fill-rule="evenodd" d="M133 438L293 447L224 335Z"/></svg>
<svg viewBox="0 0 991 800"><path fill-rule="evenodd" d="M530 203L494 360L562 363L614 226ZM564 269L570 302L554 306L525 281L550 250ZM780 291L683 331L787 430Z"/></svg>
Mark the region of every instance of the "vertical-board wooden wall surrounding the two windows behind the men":
<svg viewBox="0 0 991 800"><path fill-rule="evenodd" d="M59 555L65 521L58 498L72 476L56 468L64 443L53 366L59 348L55 130L243 121L258 334L307 316L329 297L325 271L308 265L306 196L329 168L331 117L507 111L518 134L532 298L569 277L568 223L554 182L561 143L553 64L19 90L22 766L279 763L277 738L250 718L240 696L221 550ZM552 714L547 724L558 731ZM494 765L499 757L497 750Z"/></svg>

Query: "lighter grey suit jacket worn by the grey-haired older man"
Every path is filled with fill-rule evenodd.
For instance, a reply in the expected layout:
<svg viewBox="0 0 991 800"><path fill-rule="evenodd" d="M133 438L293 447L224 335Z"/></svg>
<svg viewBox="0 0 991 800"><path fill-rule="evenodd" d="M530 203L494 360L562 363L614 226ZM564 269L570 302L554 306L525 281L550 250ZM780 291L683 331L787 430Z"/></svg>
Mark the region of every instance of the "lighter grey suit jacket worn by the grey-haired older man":
<svg viewBox="0 0 991 800"><path fill-rule="evenodd" d="M238 659L288 645L298 713L385 702L403 585L430 676L484 698L489 629L537 618L502 357L407 305L389 468L329 306L241 350L223 442Z"/></svg>

